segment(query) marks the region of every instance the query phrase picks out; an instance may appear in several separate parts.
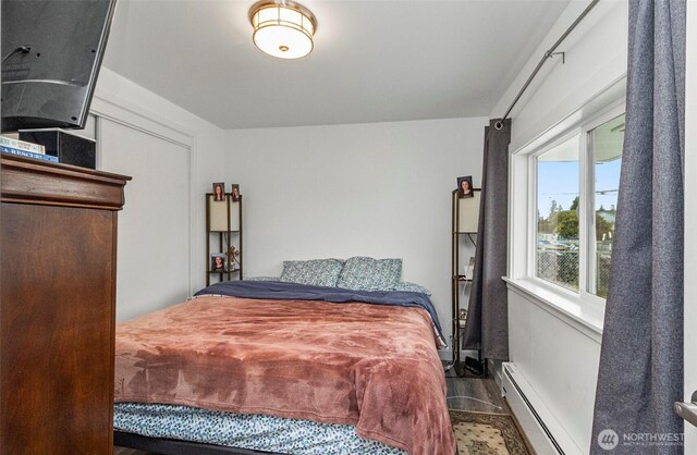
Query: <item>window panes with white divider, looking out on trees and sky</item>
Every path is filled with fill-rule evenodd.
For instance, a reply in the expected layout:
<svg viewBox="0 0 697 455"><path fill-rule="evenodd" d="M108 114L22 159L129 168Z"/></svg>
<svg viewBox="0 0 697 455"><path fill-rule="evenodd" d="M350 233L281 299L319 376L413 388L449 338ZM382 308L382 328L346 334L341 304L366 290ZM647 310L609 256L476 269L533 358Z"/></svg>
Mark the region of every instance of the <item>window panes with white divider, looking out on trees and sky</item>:
<svg viewBox="0 0 697 455"><path fill-rule="evenodd" d="M624 113L615 109L529 156L536 279L607 297L623 142Z"/></svg>

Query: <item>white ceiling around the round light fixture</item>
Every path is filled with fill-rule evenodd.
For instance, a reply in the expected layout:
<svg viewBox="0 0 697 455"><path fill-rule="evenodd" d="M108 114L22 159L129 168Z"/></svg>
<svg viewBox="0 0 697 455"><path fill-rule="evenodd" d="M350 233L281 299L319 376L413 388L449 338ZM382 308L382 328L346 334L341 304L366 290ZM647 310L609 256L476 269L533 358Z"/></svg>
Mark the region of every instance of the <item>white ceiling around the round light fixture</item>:
<svg viewBox="0 0 697 455"><path fill-rule="evenodd" d="M222 128L485 116L568 3L301 1L315 50L284 61L255 0L119 0L103 64Z"/></svg>

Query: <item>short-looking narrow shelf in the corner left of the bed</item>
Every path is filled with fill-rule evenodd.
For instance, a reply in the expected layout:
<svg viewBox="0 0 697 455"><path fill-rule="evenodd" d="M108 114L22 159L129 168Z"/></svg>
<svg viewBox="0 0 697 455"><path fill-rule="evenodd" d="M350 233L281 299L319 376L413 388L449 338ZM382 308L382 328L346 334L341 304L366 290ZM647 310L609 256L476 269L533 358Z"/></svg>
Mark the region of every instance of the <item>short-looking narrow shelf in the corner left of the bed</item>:
<svg viewBox="0 0 697 455"><path fill-rule="evenodd" d="M211 276L218 281L242 280L242 196L233 200L232 194L228 193L223 195L223 200L215 200L213 194L207 193L206 285L210 285ZM215 255L223 258L220 269L216 268Z"/></svg>

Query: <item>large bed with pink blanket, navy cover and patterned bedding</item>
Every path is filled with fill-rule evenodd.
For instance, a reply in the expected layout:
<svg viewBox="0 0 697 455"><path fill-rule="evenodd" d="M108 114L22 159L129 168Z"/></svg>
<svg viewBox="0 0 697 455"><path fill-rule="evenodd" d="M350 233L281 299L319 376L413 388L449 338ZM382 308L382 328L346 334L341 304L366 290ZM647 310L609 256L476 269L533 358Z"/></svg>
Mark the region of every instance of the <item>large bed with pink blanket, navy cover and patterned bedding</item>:
<svg viewBox="0 0 697 455"><path fill-rule="evenodd" d="M172 454L452 454L442 344L424 293L217 283L118 325L114 443Z"/></svg>

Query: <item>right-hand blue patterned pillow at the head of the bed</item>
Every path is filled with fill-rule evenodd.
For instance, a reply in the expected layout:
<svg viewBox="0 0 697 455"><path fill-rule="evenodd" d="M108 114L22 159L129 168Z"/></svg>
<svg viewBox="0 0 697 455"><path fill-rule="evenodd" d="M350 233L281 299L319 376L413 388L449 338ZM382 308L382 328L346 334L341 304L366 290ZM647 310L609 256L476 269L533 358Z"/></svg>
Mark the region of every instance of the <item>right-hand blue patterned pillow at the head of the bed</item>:
<svg viewBox="0 0 697 455"><path fill-rule="evenodd" d="M344 263L337 287L359 291L391 291L402 276L402 259L355 256Z"/></svg>

